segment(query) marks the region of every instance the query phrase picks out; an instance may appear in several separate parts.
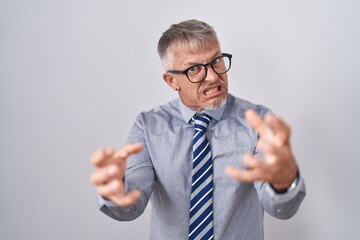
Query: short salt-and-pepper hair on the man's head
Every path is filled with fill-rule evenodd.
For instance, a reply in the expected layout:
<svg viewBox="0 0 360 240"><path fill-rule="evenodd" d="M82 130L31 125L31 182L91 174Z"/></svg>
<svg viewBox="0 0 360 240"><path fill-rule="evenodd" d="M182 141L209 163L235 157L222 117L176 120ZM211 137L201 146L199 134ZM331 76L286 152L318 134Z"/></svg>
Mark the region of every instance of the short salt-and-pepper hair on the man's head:
<svg viewBox="0 0 360 240"><path fill-rule="evenodd" d="M166 58L175 48L197 50L205 48L208 43L219 44L216 32L207 23L192 19L171 25L159 39L157 50L166 67Z"/></svg>

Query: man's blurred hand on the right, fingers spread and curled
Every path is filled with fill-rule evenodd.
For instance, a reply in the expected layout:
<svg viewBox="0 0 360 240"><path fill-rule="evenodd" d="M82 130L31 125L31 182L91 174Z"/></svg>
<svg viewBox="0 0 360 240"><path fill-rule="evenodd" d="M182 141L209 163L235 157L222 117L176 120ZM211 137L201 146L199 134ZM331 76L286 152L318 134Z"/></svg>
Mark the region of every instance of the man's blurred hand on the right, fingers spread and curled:
<svg viewBox="0 0 360 240"><path fill-rule="evenodd" d="M243 162L247 170L229 166L226 173L239 181L265 181L278 191L287 189L298 171L290 146L289 126L270 113L263 120L255 111L247 110L245 118L260 135L257 149L263 152L264 160L245 154Z"/></svg>

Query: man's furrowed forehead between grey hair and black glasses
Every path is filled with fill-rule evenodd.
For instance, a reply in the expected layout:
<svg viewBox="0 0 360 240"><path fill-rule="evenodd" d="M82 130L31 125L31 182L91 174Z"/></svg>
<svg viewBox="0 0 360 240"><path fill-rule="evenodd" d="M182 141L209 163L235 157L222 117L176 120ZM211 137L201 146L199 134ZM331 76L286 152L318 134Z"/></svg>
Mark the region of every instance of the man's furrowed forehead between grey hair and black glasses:
<svg viewBox="0 0 360 240"><path fill-rule="evenodd" d="M221 54L217 42L208 42L202 47L190 44L174 45L168 54L169 64L173 67L187 67L199 63L207 63Z"/></svg>

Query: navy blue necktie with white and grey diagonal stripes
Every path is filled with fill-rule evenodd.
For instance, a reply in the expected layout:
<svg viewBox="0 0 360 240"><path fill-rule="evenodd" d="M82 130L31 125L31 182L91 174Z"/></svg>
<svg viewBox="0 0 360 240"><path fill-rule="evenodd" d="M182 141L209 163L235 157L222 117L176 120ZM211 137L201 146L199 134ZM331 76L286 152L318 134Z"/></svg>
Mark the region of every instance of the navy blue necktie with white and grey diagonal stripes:
<svg viewBox="0 0 360 240"><path fill-rule="evenodd" d="M213 239L213 167L206 129L211 117L195 115L189 239Z"/></svg>

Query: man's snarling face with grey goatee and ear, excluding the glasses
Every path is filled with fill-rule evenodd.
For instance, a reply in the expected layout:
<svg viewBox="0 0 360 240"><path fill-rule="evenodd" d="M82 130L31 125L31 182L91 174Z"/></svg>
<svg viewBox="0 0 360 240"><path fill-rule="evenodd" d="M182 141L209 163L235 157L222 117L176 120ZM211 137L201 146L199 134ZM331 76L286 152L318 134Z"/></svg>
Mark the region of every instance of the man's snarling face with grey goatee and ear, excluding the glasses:
<svg viewBox="0 0 360 240"><path fill-rule="evenodd" d="M167 57L167 70L185 70L196 64L206 64L221 56L217 43L208 44L205 49L185 50L175 48ZM227 74L217 75L210 66L207 77L200 83L192 83L185 74L164 73L166 83L178 91L182 102L191 109L216 109L221 107L228 96Z"/></svg>

